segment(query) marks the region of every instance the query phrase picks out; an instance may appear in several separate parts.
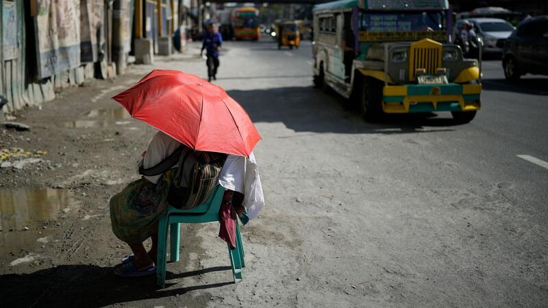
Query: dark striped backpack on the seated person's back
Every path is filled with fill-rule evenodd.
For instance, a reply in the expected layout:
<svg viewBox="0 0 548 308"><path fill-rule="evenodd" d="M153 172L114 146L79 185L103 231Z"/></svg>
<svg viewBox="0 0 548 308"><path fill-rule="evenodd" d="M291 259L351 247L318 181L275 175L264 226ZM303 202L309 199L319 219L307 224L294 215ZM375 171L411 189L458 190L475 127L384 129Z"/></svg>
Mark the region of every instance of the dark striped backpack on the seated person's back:
<svg viewBox="0 0 548 308"><path fill-rule="evenodd" d="M192 209L208 201L226 157L223 153L193 151L187 146L179 146L160 164L148 169L141 166L139 173L159 175L177 164L167 200L177 209Z"/></svg>

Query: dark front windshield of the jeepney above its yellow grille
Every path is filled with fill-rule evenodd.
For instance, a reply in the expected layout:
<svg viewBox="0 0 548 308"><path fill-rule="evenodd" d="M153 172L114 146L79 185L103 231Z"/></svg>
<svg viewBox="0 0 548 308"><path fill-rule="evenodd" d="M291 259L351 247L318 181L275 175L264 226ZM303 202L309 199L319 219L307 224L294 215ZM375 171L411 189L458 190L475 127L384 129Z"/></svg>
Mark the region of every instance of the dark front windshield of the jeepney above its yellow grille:
<svg viewBox="0 0 548 308"><path fill-rule="evenodd" d="M362 31L440 31L443 15L440 12L361 12Z"/></svg>

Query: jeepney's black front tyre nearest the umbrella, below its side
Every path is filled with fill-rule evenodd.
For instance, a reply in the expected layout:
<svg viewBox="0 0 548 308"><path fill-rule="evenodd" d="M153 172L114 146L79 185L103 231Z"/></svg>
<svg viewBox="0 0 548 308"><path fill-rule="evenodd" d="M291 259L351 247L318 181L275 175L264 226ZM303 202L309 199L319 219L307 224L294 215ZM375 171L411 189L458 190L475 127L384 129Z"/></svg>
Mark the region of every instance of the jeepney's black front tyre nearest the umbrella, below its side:
<svg viewBox="0 0 548 308"><path fill-rule="evenodd" d="M382 84L372 78L364 78L360 88L358 110L367 122L379 120L382 116Z"/></svg>

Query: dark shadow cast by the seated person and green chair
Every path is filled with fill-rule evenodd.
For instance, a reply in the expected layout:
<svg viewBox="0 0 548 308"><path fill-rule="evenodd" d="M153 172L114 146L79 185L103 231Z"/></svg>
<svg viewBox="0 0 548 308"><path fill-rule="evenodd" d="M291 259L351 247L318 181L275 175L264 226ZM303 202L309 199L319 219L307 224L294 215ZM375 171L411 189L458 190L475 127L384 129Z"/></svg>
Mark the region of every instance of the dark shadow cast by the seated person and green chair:
<svg viewBox="0 0 548 308"><path fill-rule="evenodd" d="M188 292L222 287L234 282L192 286L181 284L181 287L172 288L174 283L170 283L170 280L223 270L231 268L219 266L181 274L167 272L166 288L169 290L158 287L154 275L134 279L121 278L112 273L112 268L93 265L66 265L31 274L6 274L0 276L3 294L0 297L0 307L103 307L169 296L178 296L177 300L182 300L188 307L206 307L211 294L193 296Z"/></svg>

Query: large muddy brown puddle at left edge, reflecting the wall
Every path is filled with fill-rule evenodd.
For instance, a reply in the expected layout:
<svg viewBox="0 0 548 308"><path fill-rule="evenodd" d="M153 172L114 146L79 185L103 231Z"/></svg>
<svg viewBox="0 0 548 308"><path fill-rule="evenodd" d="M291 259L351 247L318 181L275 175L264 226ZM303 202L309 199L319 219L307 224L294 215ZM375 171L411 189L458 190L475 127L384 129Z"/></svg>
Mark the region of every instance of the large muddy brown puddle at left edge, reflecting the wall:
<svg viewBox="0 0 548 308"><path fill-rule="evenodd" d="M44 221L74 213L79 206L80 201L75 200L73 193L68 190L0 189L2 251L9 252L14 251L15 248L33 247L37 240L40 240L38 242L41 244L46 244L46 237L52 233L55 225L51 222L48 229L42 229Z"/></svg>

